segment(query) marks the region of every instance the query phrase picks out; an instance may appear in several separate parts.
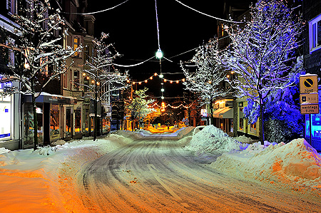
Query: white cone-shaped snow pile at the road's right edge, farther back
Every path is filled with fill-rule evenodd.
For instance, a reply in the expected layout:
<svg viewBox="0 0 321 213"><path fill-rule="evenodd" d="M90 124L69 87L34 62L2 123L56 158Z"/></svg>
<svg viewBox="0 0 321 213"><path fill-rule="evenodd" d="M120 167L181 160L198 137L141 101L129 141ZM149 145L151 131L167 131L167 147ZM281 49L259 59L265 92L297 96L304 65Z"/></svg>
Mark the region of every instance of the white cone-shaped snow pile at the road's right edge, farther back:
<svg viewBox="0 0 321 213"><path fill-rule="evenodd" d="M208 125L203 130L193 135L190 144L185 148L193 150L198 154L207 152L210 154L221 154L232 150L240 150L241 143L229 137L220 128Z"/></svg>

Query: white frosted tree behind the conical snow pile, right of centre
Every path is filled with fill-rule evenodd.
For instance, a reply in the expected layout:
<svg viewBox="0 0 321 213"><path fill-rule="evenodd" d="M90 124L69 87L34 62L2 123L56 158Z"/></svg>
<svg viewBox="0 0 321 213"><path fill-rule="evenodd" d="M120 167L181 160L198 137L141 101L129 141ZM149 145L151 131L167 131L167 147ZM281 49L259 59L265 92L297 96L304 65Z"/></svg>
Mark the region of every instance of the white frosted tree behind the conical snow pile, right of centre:
<svg viewBox="0 0 321 213"><path fill-rule="evenodd" d="M181 64L186 77L183 83L187 90L197 93L202 101L201 105L210 105L211 123L213 123L213 105L210 104L215 98L228 95L228 87L223 86L227 79L223 70L218 39L214 38L198 48L197 53L190 62L196 64L196 71L190 72Z"/></svg>

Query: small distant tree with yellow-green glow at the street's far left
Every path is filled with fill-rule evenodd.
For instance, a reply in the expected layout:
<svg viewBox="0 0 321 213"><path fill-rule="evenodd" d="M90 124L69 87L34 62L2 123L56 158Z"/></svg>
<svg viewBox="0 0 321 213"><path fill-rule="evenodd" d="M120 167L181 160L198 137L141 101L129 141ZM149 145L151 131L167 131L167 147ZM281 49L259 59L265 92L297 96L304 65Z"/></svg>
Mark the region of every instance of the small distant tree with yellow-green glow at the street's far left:
<svg viewBox="0 0 321 213"><path fill-rule="evenodd" d="M148 95L146 95L147 90L148 88L136 90L136 97L131 100L130 104L126 105L126 110L131 112L131 120L133 120L133 122L140 118L145 118L149 113L156 112L156 110L150 106L155 100L148 99Z"/></svg>

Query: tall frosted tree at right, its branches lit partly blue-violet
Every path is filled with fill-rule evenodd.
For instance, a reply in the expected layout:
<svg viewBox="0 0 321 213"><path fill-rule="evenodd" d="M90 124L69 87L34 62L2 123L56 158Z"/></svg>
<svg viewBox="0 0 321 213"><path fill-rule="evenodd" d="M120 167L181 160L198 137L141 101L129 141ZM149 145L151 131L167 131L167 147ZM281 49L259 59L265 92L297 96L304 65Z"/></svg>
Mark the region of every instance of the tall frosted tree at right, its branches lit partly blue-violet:
<svg viewBox="0 0 321 213"><path fill-rule="evenodd" d="M260 0L250 8L250 21L225 26L232 41L226 51L226 67L238 74L233 83L238 97L248 97L258 106L260 140L264 140L263 113L271 93L295 83L289 76L300 46L302 21L279 0ZM295 76L295 75L294 75ZM255 117L256 116L256 117Z"/></svg>

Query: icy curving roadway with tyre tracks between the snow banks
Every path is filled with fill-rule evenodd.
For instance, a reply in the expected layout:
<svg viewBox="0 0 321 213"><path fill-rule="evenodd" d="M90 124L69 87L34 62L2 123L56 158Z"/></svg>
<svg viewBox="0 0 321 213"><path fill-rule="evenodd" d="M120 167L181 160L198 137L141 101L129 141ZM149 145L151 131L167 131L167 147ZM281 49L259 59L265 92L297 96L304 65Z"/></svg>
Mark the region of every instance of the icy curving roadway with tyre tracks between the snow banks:
<svg viewBox="0 0 321 213"><path fill-rule="evenodd" d="M170 137L146 137L94 160L78 175L88 212L320 212L306 194L227 177Z"/></svg>

